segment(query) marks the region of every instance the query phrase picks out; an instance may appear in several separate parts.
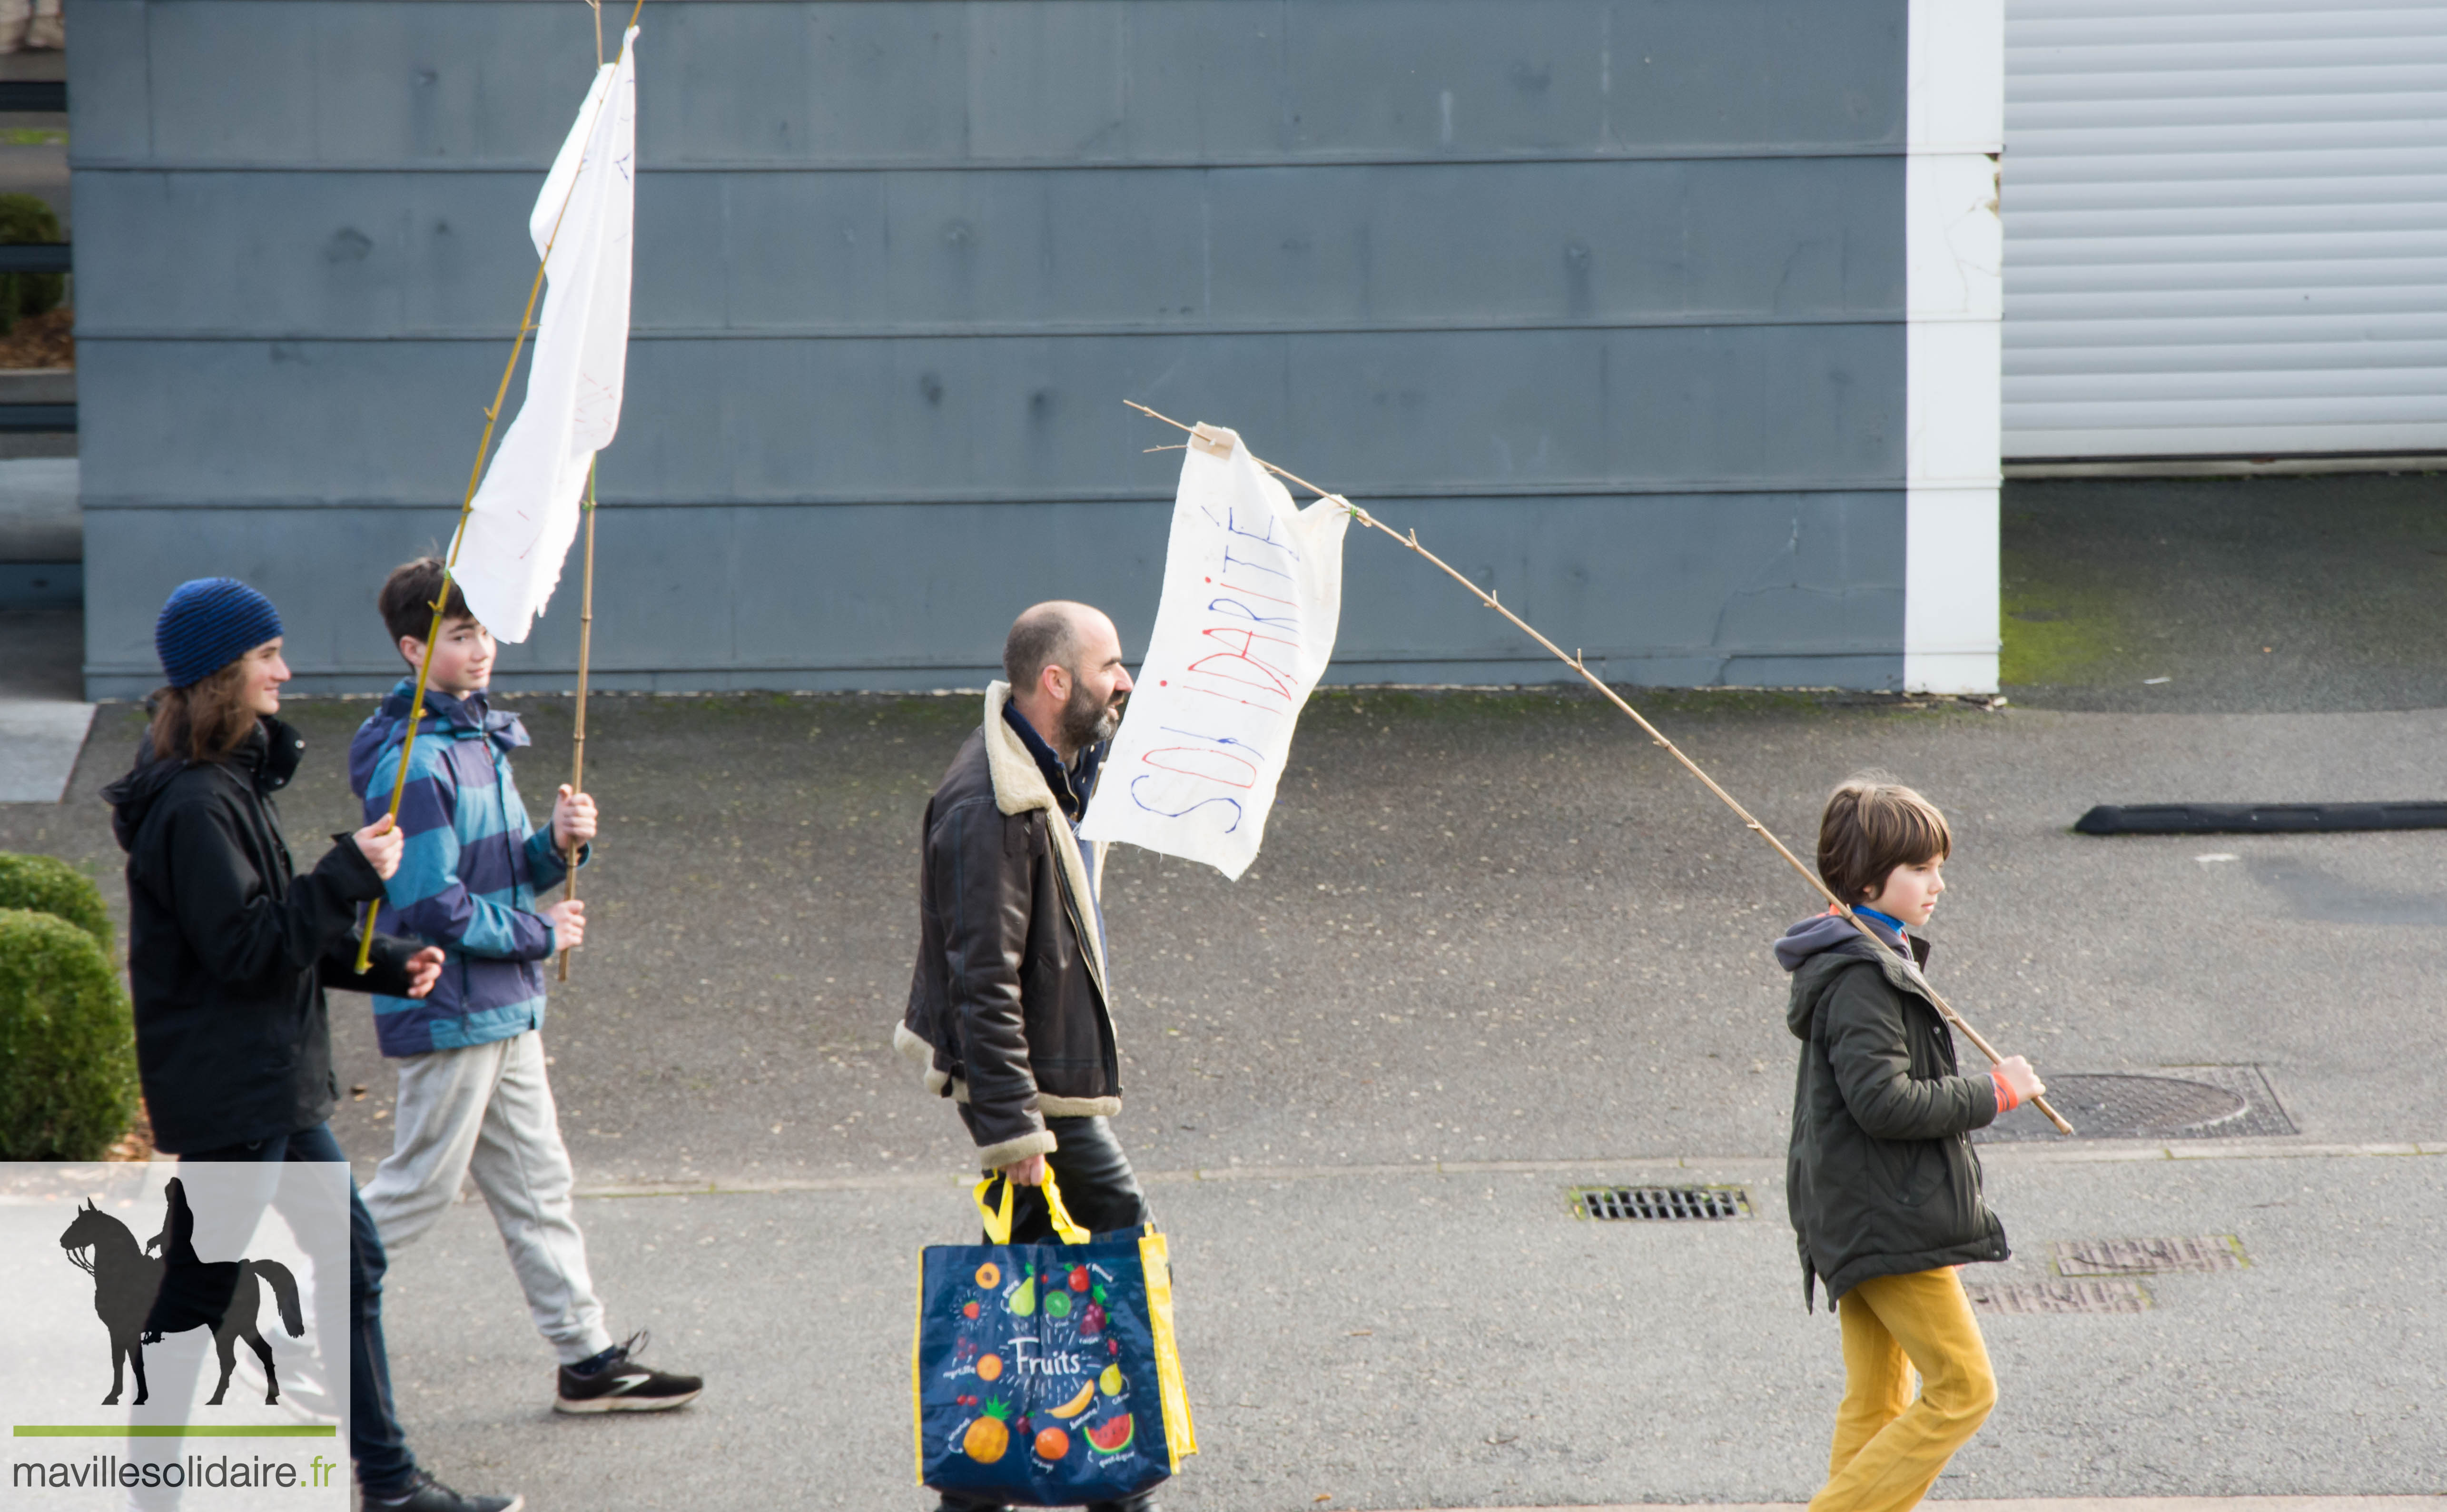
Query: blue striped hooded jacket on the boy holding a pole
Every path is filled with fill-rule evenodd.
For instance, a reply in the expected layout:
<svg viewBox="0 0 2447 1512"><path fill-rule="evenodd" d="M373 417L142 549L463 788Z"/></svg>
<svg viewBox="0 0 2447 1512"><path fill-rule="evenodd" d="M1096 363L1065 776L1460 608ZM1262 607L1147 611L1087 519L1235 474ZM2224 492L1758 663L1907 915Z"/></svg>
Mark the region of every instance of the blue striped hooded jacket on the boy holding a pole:
<svg viewBox="0 0 2447 1512"><path fill-rule="evenodd" d="M367 822L392 807L414 695L414 683L401 680L350 741L347 776ZM553 925L536 913L536 893L558 886L568 866L551 827L529 822L509 778L509 754L526 744L519 717L489 710L482 692L458 700L426 690L399 800L406 849L374 927L440 944L448 959L423 1001L374 998L382 1054L460 1050L543 1028Z"/></svg>

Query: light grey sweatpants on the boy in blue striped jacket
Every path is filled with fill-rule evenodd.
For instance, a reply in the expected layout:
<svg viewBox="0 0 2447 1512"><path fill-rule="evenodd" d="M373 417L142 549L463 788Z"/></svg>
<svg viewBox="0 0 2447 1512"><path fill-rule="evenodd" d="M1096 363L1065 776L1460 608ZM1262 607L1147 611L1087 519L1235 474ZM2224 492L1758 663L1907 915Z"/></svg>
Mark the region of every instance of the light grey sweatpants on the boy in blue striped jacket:
<svg viewBox="0 0 2447 1512"><path fill-rule="evenodd" d="M421 1238L475 1174L526 1292L526 1311L560 1363L612 1348L587 1275L587 1240L573 1214L577 1177L543 1079L543 1035L529 1030L492 1045L406 1054L396 1064L396 1140L365 1187L382 1248Z"/></svg>

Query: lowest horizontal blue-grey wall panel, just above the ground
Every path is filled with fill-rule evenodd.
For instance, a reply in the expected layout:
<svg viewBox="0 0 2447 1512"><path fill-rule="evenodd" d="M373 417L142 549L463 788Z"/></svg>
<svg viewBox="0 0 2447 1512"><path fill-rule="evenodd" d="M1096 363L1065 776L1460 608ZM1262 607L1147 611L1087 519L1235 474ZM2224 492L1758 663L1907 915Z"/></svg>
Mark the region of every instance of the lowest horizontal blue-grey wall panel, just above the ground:
<svg viewBox="0 0 2447 1512"><path fill-rule="evenodd" d="M1383 499L1387 519L1542 624L1615 626L1581 643L1639 683L1892 683L1904 624L1904 497L1703 494ZM448 509L110 509L88 516L88 573L159 604L198 560L277 585L303 690L394 675L374 590L450 533ZM1170 504L996 504L607 511L595 665L607 687L979 685L1011 617L1038 597L1108 609L1128 646L1155 624ZM913 546L923 550L913 555ZM299 573L301 560L318 563ZM1334 680L1544 680L1520 636L1451 592L1419 592L1417 558L1353 533ZM560 687L577 663L560 599L502 685ZM159 673L149 617L88 636L103 695ZM1551 663L1549 663L1551 665Z"/></svg>

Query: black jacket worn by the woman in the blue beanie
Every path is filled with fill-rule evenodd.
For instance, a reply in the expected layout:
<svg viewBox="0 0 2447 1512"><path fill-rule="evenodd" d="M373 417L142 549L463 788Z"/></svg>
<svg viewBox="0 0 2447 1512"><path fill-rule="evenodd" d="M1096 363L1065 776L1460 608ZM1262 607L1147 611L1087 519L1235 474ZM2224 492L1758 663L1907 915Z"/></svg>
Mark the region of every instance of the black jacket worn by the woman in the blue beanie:
<svg viewBox="0 0 2447 1512"><path fill-rule="evenodd" d="M103 790L127 851L127 979L154 1145L179 1155L330 1118L323 986L406 993L416 944L374 937L355 974L357 922L382 878L340 837L296 876L272 793L306 741L262 719L225 761L154 761Z"/></svg>

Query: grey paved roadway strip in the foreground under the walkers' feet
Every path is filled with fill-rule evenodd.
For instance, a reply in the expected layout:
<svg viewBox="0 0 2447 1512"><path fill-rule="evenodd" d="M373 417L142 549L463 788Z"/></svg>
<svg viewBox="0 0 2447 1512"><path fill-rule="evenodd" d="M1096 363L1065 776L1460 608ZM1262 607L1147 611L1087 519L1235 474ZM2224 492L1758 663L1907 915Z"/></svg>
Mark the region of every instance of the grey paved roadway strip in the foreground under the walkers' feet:
<svg viewBox="0 0 2447 1512"><path fill-rule="evenodd" d="M1123 1138L1148 1118L1118 1123ZM1977 1497L2437 1495L2447 1157L1989 1157L2014 1260L2237 1236L2249 1265L2153 1275L2144 1311L1985 1316L1999 1407L1938 1483ZM1843 1360L1803 1311L1779 1160L1324 1167L1157 1182L1204 1453L1167 1512L1799 1502ZM1593 1223L1595 1182L1730 1182L1752 1216ZM590 1199L614 1333L707 1375L683 1414L558 1419L551 1353L482 1204L392 1258L392 1370L445 1480L563 1507L923 1512L910 1287L971 1243L935 1187ZM1329 1500L1321 1500L1329 1497Z"/></svg>

